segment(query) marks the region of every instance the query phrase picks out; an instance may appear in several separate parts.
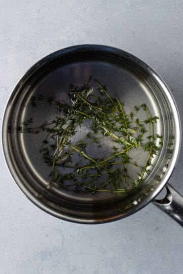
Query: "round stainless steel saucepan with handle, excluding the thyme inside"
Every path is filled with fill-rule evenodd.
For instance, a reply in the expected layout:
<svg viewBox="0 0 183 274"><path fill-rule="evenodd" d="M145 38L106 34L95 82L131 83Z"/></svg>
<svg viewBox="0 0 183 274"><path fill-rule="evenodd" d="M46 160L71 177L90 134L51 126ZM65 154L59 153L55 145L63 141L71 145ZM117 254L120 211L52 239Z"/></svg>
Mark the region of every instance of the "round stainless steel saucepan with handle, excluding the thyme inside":
<svg viewBox="0 0 183 274"><path fill-rule="evenodd" d="M73 193L58 185L49 184L50 170L40 154L43 132L22 134L22 121L32 117L36 123L53 118L46 105L34 108L32 98L42 94L65 103L71 84L80 86L98 79L120 101L126 110L145 104L152 116L155 133L163 136L161 151L153 159L153 169L143 184L129 187L126 194ZM80 134L86 127L80 128ZM149 202L183 225L183 197L168 183L180 149L180 119L173 96L161 77L149 65L123 50L101 45L79 45L56 51L33 65L21 78L6 106L2 140L5 159L19 188L39 208L67 221L97 224L125 218ZM102 153L108 150L103 144ZM91 146L93 155L99 153ZM101 152L100 152L101 153ZM143 161L143 154L136 155ZM132 168L133 172L133 168ZM163 199L156 196L163 188Z"/></svg>

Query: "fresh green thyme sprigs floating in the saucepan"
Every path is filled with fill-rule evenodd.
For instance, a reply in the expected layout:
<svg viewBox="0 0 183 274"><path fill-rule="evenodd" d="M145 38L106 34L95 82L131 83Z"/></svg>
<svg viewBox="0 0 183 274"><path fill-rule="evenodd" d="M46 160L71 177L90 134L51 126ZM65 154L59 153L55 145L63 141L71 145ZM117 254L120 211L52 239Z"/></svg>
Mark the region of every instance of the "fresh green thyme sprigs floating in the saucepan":
<svg viewBox="0 0 183 274"><path fill-rule="evenodd" d="M82 87L70 86L71 105L53 101L43 95L32 97L33 107L37 100L47 101L56 106L55 119L42 125L32 127L33 118L21 123L22 133L44 132L44 140L40 144L43 160L51 167L50 183L60 185L77 193L107 191L110 193L126 193L127 188L137 187L150 174L152 158L162 146L162 136L153 132L153 124L158 117L151 117L146 105L135 106L130 114L124 110L119 99L111 97L105 86L97 80L98 95L89 88L89 81ZM146 113L146 119L140 121L139 111ZM89 132L78 139L78 127L89 126ZM149 127L150 135L144 134ZM46 133L45 133L46 132ZM77 135L77 138L74 136ZM157 146L157 139L159 144ZM110 156L94 157L90 146L97 146L98 155L102 153L101 144L109 140ZM132 150L143 150L147 154L144 166L134 162L129 153ZM138 168L136 179L129 174L129 166Z"/></svg>

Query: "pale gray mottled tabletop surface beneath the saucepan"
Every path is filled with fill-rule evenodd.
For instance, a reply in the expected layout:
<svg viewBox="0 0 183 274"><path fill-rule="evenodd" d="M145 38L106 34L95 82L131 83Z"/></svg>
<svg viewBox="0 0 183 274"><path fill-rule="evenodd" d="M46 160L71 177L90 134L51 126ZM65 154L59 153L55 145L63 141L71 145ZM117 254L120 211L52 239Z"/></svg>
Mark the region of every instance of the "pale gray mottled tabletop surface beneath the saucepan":
<svg viewBox="0 0 183 274"><path fill-rule="evenodd" d="M43 56L96 43L135 54L163 77L183 118L183 1L0 1L0 111L17 80ZM1 119L2 120L2 119ZM182 149L170 183L183 194ZM103 225L39 210L0 158L0 273L182 273L182 227L154 205Z"/></svg>

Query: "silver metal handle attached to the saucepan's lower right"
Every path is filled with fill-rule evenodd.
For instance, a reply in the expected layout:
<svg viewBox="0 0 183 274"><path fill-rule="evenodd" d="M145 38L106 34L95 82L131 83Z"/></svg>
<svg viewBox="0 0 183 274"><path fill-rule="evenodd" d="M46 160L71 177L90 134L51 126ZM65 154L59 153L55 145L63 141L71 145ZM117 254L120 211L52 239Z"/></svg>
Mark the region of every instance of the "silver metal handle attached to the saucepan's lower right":
<svg viewBox="0 0 183 274"><path fill-rule="evenodd" d="M153 203L183 226L183 197L169 184L166 184L165 198L155 199Z"/></svg>

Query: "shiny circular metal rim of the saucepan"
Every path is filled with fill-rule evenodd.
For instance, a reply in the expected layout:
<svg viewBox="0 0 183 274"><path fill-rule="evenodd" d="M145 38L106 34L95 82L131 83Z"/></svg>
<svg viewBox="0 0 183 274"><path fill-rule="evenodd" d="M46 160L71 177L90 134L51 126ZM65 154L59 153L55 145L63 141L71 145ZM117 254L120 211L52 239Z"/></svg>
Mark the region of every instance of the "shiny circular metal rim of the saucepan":
<svg viewBox="0 0 183 274"><path fill-rule="evenodd" d="M96 220L96 219L87 219L84 217L80 218L80 217L75 217L75 216L69 216L69 215L60 213L56 210L53 210L48 205L44 204L39 198L34 196L23 185L23 183L21 182L21 179L19 178L18 174L16 173L16 169L13 166L13 163L11 162L11 157L10 157L9 151L8 151L7 130L8 130L9 112L11 109L11 105L12 105L11 101L12 101L13 96L16 94L16 91L18 90L18 88L26 81L28 76L31 75L40 65L42 65L45 62L48 62L52 59L55 59L61 55L69 54L70 52L77 52L77 51L81 51L81 50L92 51L92 50L97 50L97 49L99 49L101 51L103 51L103 50L110 51L110 52L114 52L119 55L126 56L127 58L130 58L130 59L134 60L135 62L137 62L145 70L148 70L148 72L151 74L151 76L154 77L154 79L158 82L158 84L163 89L163 91L166 95L166 98L168 99L169 104L171 106L171 111L172 111L172 116L173 116L174 126L175 126L175 128L174 128L175 145L174 145L174 150L173 150L172 157L171 157L171 163L169 164L168 169L167 169L166 174L164 175L163 179L160 181L159 185L154 189L154 191L152 191L145 199L143 199L142 202L138 203L136 205L136 207L133 208L133 211L131 209L127 209L124 213L120 213L119 215ZM55 217L58 217L58 218L61 218L61 219L67 220L67 221L77 222L77 223L96 224L96 223L110 222L110 221L114 221L114 220L118 220L118 219L130 216L131 214L133 214L133 213L139 211L140 209L142 209L143 207L145 207L145 205L147 205L150 201L152 201L159 194L159 192L163 189L163 187L168 182L168 180L173 172L173 169L175 167L175 164L177 162L179 151L180 151L180 143L181 143L180 117L179 117L178 109L176 106L176 102L175 102L168 86L165 84L163 79L148 64L146 64L142 60L138 59L137 57L135 57L134 55L132 55L126 51L123 51L121 49L116 49L113 47L109 47L109 46L77 45L77 46L72 46L72 47L58 50L58 51L53 52L53 53L47 55L46 57L42 58L40 61L38 61L36 64L34 64L31 68L29 68L29 70L24 74L24 76L18 81L17 85L15 86L15 88L13 89L13 91L11 92L11 94L9 96L3 117L4 118L3 118L3 123L2 123L2 147L3 147L4 157L5 157L5 161L7 163L9 172L10 172L11 176L13 177L14 181L16 182L16 184L24 192L24 194L29 198L29 200L34 202L39 208L41 208L45 212L47 212Z"/></svg>

